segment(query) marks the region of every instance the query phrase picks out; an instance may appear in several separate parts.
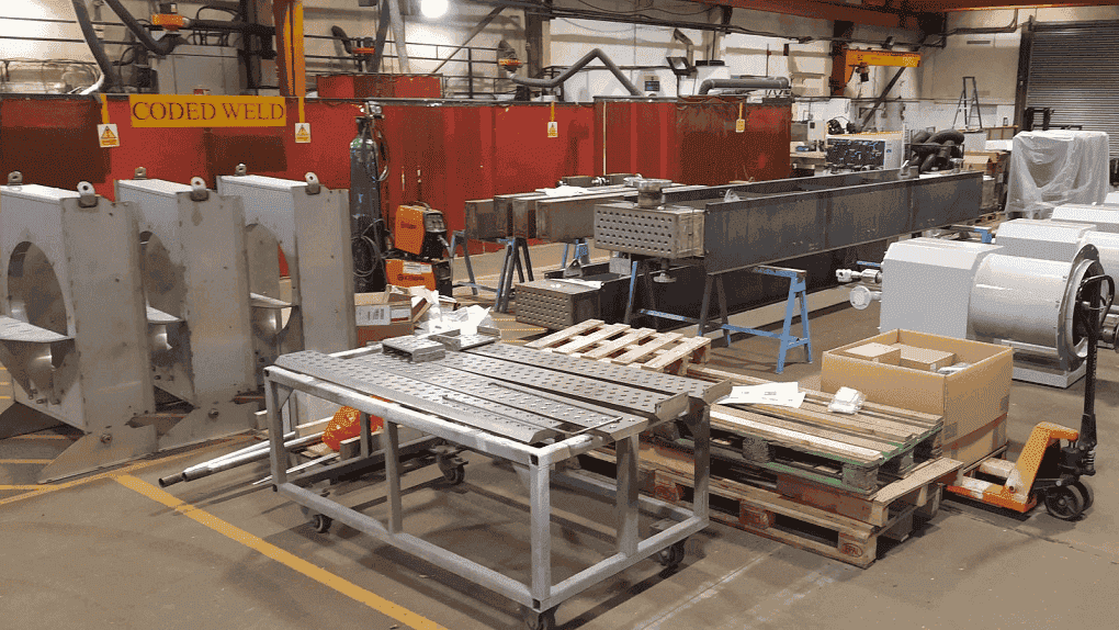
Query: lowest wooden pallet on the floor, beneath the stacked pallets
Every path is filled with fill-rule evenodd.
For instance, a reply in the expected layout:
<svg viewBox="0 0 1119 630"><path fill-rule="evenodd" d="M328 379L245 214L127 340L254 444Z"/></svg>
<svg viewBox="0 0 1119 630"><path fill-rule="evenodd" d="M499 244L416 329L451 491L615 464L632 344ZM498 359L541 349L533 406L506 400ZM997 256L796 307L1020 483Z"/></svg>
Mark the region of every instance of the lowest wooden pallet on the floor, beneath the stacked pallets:
<svg viewBox="0 0 1119 630"><path fill-rule="evenodd" d="M613 453L608 451L583 457L614 463ZM959 466L959 462L947 466L931 462L919 469L928 471L920 474L914 471L911 479L887 486L874 497L848 500L834 497L836 510L779 491L713 477L708 486L709 514L713 520L725 525L865 568L877 557L880 538L903 542L913 530L914 516L928 519L937 514L942 492L940 473L944 468L956 470ZM671 504L689 502L693 464L687 453L645 448L640 468L647 477L646 492ZM801 498L822 501L827 490L819 490L822 493L803 492Z"/></svg>

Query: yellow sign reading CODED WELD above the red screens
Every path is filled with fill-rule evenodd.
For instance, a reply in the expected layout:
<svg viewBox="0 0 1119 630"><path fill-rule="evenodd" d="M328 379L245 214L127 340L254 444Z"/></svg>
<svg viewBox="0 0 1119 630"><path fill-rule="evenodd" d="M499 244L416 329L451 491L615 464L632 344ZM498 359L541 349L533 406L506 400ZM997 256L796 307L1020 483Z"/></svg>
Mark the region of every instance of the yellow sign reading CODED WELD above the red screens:
<svg viewBox="0 0 1119 630"><path fill-rule="evenodd" d="M132 126L284 126L283 96L130 94Z"/></svg>

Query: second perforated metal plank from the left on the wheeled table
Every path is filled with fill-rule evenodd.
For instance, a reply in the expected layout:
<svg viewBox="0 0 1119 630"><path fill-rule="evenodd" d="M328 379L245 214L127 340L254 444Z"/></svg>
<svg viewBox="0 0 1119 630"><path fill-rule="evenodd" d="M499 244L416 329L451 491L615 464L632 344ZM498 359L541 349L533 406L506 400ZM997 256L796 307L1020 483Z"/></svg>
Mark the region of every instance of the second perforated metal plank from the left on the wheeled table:
<svg viewBox="0 0 1119 630"><path fill-rule="evenodd" d="M491 399L514 408L525 410L557 422L575 425L577 430L614 435L634 425L646 425L648 421L631 414L609 410L595 411L577 406L574 401L563 401L544 392L526 391L507 383L444 367L443 361L413 365L392 355L368 355L352 359L364 366L380 369L424 383L440 385L463 394ZM515 364L510 364L515 365Z"/></svg>

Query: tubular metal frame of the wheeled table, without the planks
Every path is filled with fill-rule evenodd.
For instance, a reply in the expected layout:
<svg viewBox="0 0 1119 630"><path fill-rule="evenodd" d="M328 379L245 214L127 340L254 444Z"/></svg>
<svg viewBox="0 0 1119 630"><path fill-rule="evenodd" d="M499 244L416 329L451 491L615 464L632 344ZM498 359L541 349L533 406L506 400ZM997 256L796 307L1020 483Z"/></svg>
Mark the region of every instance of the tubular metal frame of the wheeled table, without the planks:
<svg viewBox="0 0 1119 630"><path fill-rule="evenodd" d="M524 349L505 347L491 348L487 355L498 355L516 364L518 360L528 360L523 356ZM377 352L376 347L338 352L336 355L321 355L323 357L336 358L360 358ZM452 352L448 352L452 355ZM453 355L470 356L466 352ZM540 354L543 355L543 354ZM556 357L543 355L543 358L556 360ZM564 357L566 359L566 357ZM580 360L580 359L571 359ZM587 363L587 361L584 361ZM592 361L593 363L593 361ZM416 364L414 367L422 369L424 364ZM521 364L524 365L524 364ZM558 365L558 364L555 364ZM593 365L600 368L590 370L598 374L611 366ZM321 374L321 373L320 373ZM382 373L384 374L384 373ZM650 375L637 373L640 377L662 377L666 375ZM345 377L337 378L346 380ZM683 379L681 382L687 380ZM352 383L352 382L351 382ZM604 379L604 383L608 383ZM430 411L416 411L414 403L416 398L410 395L401 395L399 398L408 399L408 406L401 402L391 399L378 399L367 392L359 391L351 386L340 385L330 380L316 378L301 374L292 367L272 366L265 369L264 389L267 402L269 426L272 435L272 477L273 487L281 495L290 498L294 502L304 506L314 513L325 515L339 523L372 535L396 548L408 552L435 566L446 570L460 577L470 580L490 591L505 595L510 600L532 609L540 614L554 610L562 602L590 589L621 571L650 558L656 554L667 549L671 545L683 542L692 534L704 529L707 526L707 487L709 479L709 420L708 404L711 399L721 397L724 393L715 393L715 389L707 388L702 394L696 394L697 382L692 382L692 389L687 392L688 405L683 412L678 412L675 417L653 417L641 423L614 423L622 424L621 430L611 432L604 431L576 431L567 436L556 436L553 443L525 443L509 436L490 433L479 430L477 426L455 422L446 417L440 417ZM712 384L702 384L708 386ZM728 384L727 384L728 385ZM376 385L363 386L363 389L377 388ZM727 387L728 388L728 387ZM288 452L283 444L282 406L291 399L294 392L303 392L338 405L354 407L360 412L361 429L361 457L374 457L369 446L369 415L377 415L384 419L385 444L384 466L386 471L386 483L388 486L387 505L389 516L385 523L359 511L342 506L341 504L322 497L312 489L304 488L300 483L313 482L323 479L331 469L340 469L355 466L352 460L342 463L331 464L313 473L289 474ZM386 394L387 389L379 388L380 394ZM683 393L681 393L683 394ZM697 396L703 399L697 401ZM387 396L382 396L387 398ZM560 399L556 396L542 393L542 403ZM420 401L422 403L422 401ZM586 406L585 403L572 402L574 406ZM436 408L430 404L420 405L422 408ZM450 408L450 407L448 407ZM450 414L453 415L453 414ZM526 413L526 416L530 415ZM624 414L619 414L624 415ZM689 419L690 429L695 439L695 496L693 508L686 509L667 502L643 497L638 493L639 489L639 433L652 426L659 426L677 419ZM526 421L527 422L527 421ZM458 446L485 454L495 459L502 459L515 462L528 469L529 486L529 513L530 513L530 581L525 584L499 572L488 568L463 556L454 554L423 540L416 536L403 532L403 507L401 491L402 468L399 463L401 443L399 427L410 427L429 435L445 440ZM567 474L552 470L554 464L573 459L582 453L590 452L605 445L613 444L618 453L618 474L614 483L593 479L585 476ZM377 453L379 455L380 453ZM309 480L309 481L308 481ZM560 582L552 583L552 534L549 530L552 521L551 485L566 486L589 495L599 495L613 498L615 501L615 518L618 526L617 551L613 555L599 563L581 571L580 573ZM642 539L638 532L638 515L640 509L650 511L658 518L675 521L667 527L655 527L655 534Z"/></svg>

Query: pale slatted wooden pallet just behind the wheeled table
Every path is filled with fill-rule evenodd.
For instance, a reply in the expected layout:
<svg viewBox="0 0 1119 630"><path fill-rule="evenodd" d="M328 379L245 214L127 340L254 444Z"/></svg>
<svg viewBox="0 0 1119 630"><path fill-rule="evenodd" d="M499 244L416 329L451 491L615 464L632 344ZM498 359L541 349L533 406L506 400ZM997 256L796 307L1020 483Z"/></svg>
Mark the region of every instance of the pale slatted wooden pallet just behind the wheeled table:
<svg viewBox="0 0 1119 630"><path fill-rule="evenodd" d="M526 347L683 376L689 364L707 363L711 339L589 319Z"/></svg>

